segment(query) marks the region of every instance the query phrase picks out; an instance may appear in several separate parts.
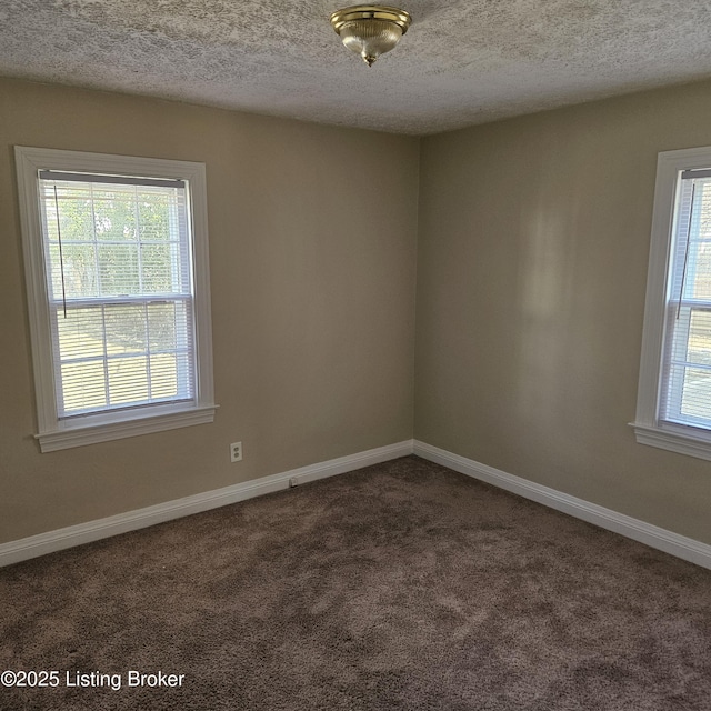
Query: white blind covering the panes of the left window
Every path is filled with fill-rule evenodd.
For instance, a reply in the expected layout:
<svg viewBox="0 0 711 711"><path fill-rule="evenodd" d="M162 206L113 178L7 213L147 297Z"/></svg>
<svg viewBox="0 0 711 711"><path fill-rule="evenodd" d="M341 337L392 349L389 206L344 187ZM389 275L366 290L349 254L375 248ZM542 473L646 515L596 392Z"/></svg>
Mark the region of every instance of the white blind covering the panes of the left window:
<svg viewBox="0 0 711 711"><path fill-rule="evenodd" d="M39 171L59 420L196 399L187 190Z"/></svg>

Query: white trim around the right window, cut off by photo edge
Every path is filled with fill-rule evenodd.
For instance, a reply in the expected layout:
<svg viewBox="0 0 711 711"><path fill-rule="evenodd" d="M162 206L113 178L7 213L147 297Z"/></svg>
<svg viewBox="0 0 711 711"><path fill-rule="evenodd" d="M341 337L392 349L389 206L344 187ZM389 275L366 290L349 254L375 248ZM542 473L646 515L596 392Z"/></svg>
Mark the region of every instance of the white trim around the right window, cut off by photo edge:
<svg viewBox="0 0 711 711"><path fill-rule="evenodd" d="M631 427L637 441L680 454L711 460L711 431L660 422L658 402L662 372L665 298L671 254L671 231L679 173L711 167L711 147L664 151L657 161L657 187L647 276L644 329L637 401Z"/></svg>

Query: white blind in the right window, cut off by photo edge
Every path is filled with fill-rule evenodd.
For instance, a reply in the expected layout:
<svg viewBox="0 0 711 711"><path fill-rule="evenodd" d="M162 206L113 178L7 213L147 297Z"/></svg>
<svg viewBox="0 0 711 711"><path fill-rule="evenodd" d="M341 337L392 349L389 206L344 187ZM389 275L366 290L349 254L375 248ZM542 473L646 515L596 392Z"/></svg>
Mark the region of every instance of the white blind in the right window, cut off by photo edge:
<svg viewBox="0 0 711 711"><path fill-rule="evenodd" d="M711 170L679 174L659 419L711 429Z"/></svg>

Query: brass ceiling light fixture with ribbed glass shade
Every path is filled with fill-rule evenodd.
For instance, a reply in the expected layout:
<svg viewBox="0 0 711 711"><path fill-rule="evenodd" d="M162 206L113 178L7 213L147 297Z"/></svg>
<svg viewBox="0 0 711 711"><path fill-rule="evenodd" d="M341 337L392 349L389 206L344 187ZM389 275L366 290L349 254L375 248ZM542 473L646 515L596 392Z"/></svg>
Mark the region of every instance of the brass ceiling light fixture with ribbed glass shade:
<svg viewBox="0 0 711 711"><path fill-rule="evenodd" d="M381 4L357 4L331 16L331 24L343 44L360 54L369 67L395 47L410 22L409 12Z"/></svg>

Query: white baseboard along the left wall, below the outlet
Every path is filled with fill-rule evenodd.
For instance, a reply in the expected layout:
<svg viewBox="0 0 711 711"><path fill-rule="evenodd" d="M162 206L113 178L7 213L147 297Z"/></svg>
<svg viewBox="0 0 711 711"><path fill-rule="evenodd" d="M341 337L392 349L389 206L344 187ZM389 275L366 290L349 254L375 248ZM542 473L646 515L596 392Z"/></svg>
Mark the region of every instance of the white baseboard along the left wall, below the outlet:
<svg viewBox="0 0 711 711"><path fill-rule="evenodd" d="M0 544L0 567L412 454L412 440Z"/></svg>

